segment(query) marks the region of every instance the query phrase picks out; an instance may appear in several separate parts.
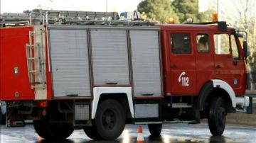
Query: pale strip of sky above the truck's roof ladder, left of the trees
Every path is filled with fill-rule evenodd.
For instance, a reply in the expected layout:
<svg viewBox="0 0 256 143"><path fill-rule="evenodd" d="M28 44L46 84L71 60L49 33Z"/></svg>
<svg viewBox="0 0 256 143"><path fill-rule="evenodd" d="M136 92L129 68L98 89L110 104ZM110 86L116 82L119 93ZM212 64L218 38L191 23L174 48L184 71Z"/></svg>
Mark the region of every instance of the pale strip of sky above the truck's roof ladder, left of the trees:
<svg viewBox="0 0 256 143"><path fill-rule="evenodd" d="M1 13L23 13L34 8L65 11L134 11L142 0L0 0ZM107 5L107 8L106 8Z"/></svg>

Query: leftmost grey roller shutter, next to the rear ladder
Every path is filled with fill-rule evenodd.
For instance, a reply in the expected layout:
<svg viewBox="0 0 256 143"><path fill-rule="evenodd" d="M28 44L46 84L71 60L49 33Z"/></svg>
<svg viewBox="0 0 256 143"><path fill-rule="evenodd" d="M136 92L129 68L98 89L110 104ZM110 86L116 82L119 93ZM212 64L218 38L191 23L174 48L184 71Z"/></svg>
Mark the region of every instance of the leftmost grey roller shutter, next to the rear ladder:
<svg viewBox="0 0 256 143"><path fill-rule="evenodd" d="M50 29L53 94L91 96L87 30Z"/></svg>

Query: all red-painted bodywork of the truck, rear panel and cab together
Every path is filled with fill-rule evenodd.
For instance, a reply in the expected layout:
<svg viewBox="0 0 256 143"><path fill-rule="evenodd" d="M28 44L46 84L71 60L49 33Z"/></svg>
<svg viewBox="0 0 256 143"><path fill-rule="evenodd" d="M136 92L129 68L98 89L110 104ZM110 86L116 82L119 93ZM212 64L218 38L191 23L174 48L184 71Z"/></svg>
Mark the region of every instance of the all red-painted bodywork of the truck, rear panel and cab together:
<svg viewBox="0 0 256 143"><path fill-rule="evenodd" d="M197 96L206 82L222 79L235 91L236 95L245 93L245 61L238 40L240 58L234 64L232 55L216 55L213 34L220 33L217 25L158 25L161 29L161 51L164 77L164 94L166 96ZM28 80L26 61L26 43L28 32L33 26L20 28L1 28L1 100L35 100L35 93ZM188 33L191 42L191 54L174 55L171 53L170 34ZM196 35L209 35L210 52L200 53L196 50ZM233 33L233 29L221 33ZM47 33L46 33L47 37ZM47 45L46 38L46 45ZM46 46L47 47L47 46ZM220 66L221 68L216 68ZM14 68L18 67L18 74ZM52 96L50 71L48 69L48 48L46 48L47 99ZM178 81L181 73L186 71L189 86L182 86ZM234 85L234 79L238 84Z"/></svg>

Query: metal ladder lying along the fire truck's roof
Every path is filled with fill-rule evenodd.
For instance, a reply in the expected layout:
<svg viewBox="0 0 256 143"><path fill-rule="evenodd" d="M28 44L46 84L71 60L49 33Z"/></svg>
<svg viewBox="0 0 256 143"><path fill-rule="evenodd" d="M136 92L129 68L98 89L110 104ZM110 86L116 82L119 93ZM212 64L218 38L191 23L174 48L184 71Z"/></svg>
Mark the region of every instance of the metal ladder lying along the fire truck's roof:
<svg viewBox="0 0 256 143"><path fill-rule="evenodd" d="M1 27L5 25L154 25L149 21L120 21L117 12L33 10L24 13L3 13Z"/></svg>

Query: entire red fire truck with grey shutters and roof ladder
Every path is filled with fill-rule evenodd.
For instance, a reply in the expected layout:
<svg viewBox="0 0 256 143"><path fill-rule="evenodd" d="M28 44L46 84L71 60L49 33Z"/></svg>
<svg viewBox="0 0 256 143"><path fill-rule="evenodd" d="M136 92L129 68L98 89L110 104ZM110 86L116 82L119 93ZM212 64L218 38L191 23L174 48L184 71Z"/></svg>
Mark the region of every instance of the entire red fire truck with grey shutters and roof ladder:
<svg viewBox="0 0 256 143"><path fill-rule="evenodd" d="M41 10L2 14L0 32L6 124L33 120L45 139L75 129L116 139L125 124L146 124L157 136L163 123L203 118L212 135L222 135L226 115L249 104L247 42L225 22Z"/></svg>

